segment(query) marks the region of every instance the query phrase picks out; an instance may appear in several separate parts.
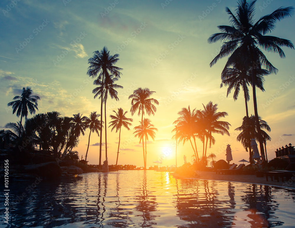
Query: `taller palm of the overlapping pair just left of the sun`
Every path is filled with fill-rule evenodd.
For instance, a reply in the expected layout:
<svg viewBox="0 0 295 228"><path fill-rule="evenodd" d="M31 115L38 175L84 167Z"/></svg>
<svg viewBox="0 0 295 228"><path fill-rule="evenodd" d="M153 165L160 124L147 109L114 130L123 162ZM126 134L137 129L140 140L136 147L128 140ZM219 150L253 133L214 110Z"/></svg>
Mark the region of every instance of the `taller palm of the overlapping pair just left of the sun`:
<svg viewBox="0 0 295 228"><path fill-rule="evenodd" d="M157 108L154 104L159 105L159 102L154 99L150 98L151 95L153 95L155 91L150 91L149 88L142 89L141 87L137 88L133 91L133 94L131 94L128 99L131 100L131 108L130 112L133 116L134 113L138 110L138 116L140 116L141 113L141 123L142 123L142 131L143 131L143 115L145 112L150 116L151 114L155 115L155 112L157 111ZM153 104L154 103L154 104ZM142 150L143 150L143 160L145 161L145 148L142 141ZM146 167L145 167L146 168Z"/></svg>

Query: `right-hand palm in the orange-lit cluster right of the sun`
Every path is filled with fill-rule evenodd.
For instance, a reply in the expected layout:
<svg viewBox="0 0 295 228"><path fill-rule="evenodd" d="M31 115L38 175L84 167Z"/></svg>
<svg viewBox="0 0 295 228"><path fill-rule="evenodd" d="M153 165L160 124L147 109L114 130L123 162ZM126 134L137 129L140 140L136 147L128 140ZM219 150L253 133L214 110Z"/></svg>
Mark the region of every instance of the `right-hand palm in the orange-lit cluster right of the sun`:
<svg viewBox="0 0 295 228"><path fill-rule="evenodd" d="M211 148L211 145L215 144L215 138L212 136L212 133L221 134L222 136L224 134L230 136L230 133L228 130L230 129L229 126L230 123L226 121L220 121L219 119L222 117L226 117L228 114L227 112L217 112L217 104L213 105L212 101L209 101L209 103L205 106L203 104L204 110L202 110L203 115L205 116L207 120L206 129L208 132L208 135L206 137L206 148L205 148L205 154L204 157L206 157L207 153L207 143L209 139L209 148Z"/></svg>

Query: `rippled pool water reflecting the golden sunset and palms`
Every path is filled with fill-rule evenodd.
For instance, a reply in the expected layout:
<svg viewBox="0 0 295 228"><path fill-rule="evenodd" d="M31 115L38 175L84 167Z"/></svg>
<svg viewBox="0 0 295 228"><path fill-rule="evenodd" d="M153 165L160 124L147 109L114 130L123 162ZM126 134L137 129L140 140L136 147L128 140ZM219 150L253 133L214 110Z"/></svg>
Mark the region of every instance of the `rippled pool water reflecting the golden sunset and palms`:
<svg viewBox="0 0 295 228"><path fill-rule="evenodd" d="M8 226L1 210L0 227L295 227L295 191L271 186L156 171L81 174L41 181L30 193L32 181L10 183L10 202L26 196L12 205Z"/></svg>

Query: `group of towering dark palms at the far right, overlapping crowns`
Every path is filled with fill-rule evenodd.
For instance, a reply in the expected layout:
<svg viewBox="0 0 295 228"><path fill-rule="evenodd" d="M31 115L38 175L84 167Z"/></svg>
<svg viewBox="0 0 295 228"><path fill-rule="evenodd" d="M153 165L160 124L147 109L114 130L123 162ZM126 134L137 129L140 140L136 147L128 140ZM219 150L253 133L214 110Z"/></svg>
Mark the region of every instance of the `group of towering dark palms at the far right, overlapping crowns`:
<svg viewBox="0 0 295 228"><path fill-rule="evenodd" d="M230 26L218 26L220 32L209 37L208 42L223 42L219 54L212 60L210 67L221 58L228 57L221 73L221 87L223 85L228 86L227 95L234 89L234 100L237 99L242 87L246 105L246 116L243 122L247 122L248 125L248 123L253 124L252 120L255 120L255 138L259 141L262 159L266 161L263 143L270 138L267 139L268 137L263 136L264 133L261 128L264 125L260 124L261 120L258 116L255 88L264 91L264 77L276 73L278 70L267 60L266 55L263 54L260 48L268 52L278 53L281 58L285 58L281 47L294 49L294 45L290 40L266 35L275 29L277 21L292 16L294 8L280 7L271 14L260 17L255 22L255 2L256 0L238 0L235 14L226 7L225 10L229 14ZM251 117L248 114L249 85L252 86L254 104L254 115L251 115ZM245 128L237 129L245 130ZM268 128L265 129L268 130ZM238 137L238 140L242 141L242 143L244 141L240 137ZM243 145L249 148L247 143L243 143Z"/></svg>

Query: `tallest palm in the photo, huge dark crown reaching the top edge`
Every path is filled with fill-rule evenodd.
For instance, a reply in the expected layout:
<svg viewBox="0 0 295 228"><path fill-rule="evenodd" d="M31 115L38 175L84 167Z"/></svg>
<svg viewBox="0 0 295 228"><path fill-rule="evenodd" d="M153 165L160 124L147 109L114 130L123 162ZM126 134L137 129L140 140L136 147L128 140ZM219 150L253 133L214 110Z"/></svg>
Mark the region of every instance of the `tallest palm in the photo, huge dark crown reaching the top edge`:
<svg viewBox="0 0 295 228"><path fill-rule="evenodd" d="M254 69L251 75L251 82L253 88L255 124L258 131L260 131L255 91L255 70L260 71L262 67L264 67L269 73L277 72L277 69L267 60L260 48L268 52L278 53L281 58L285 58L281 47L294 49L294 45L290 40L266 36L267 33L275 29L277 21L294 14L294 7L280 7L271 14L260 17L260 19L255 22L255 2L256 0L237 1L238 6L236 14L233 14L230 9L226 7L225 10L227 14L230 15L231 26L218 26L220 33L213 34L209 37L208 42L223 42L219 54L212 60L210 66L214 65L219 59L229 56L224 70L237 61L244 63L245 67L248 67L248 69ZM258 136L261 155L265 160L263 139L261 138L261 134L258 134Z"/></svg>

